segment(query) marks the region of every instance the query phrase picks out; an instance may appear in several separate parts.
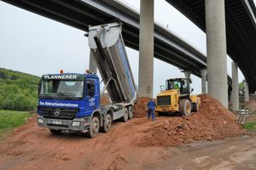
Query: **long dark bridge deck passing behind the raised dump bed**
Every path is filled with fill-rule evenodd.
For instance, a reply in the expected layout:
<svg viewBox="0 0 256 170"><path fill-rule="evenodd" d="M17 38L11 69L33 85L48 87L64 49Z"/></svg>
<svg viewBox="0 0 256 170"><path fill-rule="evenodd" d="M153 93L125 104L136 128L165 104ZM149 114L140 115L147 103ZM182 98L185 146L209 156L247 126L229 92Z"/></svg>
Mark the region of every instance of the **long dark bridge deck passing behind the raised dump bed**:
<svg viewBox="0 0 256 170"><path fill-rule="evenodd" d="M117 2L108 0L3 0L3 2L82 31L88 31L89 25L122 21L125 46L139 49L139 14ZM207 66L207 58L203 54L157 25L154 26L154 57L179 69L191 70L197 77L201 77L200 69Z"/></svg>

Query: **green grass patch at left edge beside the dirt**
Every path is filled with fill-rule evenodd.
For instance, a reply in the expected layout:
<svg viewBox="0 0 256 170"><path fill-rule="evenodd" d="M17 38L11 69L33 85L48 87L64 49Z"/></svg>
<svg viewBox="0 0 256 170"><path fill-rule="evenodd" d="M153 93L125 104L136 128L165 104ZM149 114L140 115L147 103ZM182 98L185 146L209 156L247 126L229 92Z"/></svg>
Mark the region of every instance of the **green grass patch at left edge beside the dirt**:
<svg viewBox="0 0 256 170"><path fill-rule="evenodd" d="M23 125L25 118L32 117L28 111L0 111L0 139L3 138L4 133L10 133L15 127Z"/></svg>

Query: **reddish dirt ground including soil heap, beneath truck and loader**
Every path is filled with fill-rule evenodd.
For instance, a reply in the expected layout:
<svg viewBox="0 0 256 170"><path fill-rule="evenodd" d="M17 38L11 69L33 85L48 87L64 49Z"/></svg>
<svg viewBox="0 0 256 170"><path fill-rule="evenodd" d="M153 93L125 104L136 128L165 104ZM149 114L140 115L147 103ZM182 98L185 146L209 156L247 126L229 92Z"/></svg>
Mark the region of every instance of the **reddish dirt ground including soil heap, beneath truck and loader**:
<svg viewBox="0 0 256 170"><path fill-rule="evenodd" d="M140 118L113 122L95 139L49 133L35 116L0 141L0 169L255 169L256 136L239 138L248 133L236 117L215 99L201 99L201 110L189 117L152 122L137 112ZM220 140L227 137L239 140Z"/></svg>

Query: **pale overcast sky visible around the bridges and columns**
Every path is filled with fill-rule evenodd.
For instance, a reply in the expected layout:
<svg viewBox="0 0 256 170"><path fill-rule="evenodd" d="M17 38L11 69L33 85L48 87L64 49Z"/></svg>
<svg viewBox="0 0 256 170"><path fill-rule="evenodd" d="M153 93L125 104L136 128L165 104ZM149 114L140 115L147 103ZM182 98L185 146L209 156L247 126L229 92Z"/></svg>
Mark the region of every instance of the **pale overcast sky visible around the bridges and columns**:
<svg viewBox="0 0 256 170"><path fill-rule="evenodd" d="M123 0L121 0L123 1ZM256 1L256 0L255 0ZM140 8L139 0L125 0ZM254 2L255 3L255 2ZM154 0L154 20L207 54L206 34L165 0ZM84 73L89 68L90 48L84 31L49 20L38 14L0 1L0 68L21 71L41 77L48 73ZM138 52L126 48L134 81L138 85ZM232 60L227 57L230 77ZM154 94L166 79L185 77L177 67L154 59ZM101 78L101 77L100 77ZM192 94L201 94L201 78L191 75ZM238 80L244 79L238 71Z"/></svg>

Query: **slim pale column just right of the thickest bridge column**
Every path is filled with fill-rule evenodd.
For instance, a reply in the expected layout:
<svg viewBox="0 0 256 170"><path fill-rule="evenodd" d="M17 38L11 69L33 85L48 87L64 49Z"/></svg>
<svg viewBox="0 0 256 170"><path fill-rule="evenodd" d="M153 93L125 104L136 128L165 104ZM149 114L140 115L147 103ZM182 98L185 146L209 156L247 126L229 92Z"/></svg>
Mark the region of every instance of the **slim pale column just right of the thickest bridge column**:
<svg viewBox="0 0 256 170"><path fill-rule="evenodd" d="M233 111L239 111L239 91L238 91L238 67L237 62L232 62L232 95Z"/></svg>

